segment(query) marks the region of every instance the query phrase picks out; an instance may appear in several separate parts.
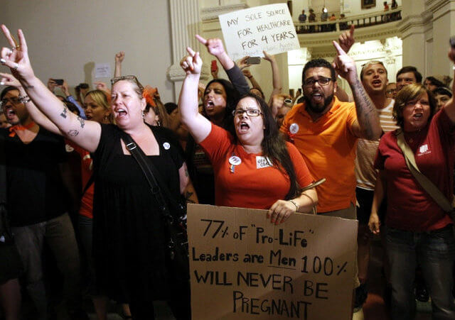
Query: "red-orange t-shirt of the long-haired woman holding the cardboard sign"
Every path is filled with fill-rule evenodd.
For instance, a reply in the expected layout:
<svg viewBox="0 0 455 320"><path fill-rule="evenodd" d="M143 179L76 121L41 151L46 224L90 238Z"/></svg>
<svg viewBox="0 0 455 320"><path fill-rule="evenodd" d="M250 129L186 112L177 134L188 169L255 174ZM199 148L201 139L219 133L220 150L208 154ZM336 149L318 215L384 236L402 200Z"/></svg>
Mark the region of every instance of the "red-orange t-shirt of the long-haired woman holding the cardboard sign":
<svg viewBox="0 0 455 320"><path fill-rule="evenodd" d="M212 124L210 134L200 146L210 158L215 172L217 206L269 209L289 192L289 177L285 173L272 167L262 153L247 153L223 128ZM306 187L313 182L313 177L299 150L291 143L287 143L287 149L297 182Z"/></svg>

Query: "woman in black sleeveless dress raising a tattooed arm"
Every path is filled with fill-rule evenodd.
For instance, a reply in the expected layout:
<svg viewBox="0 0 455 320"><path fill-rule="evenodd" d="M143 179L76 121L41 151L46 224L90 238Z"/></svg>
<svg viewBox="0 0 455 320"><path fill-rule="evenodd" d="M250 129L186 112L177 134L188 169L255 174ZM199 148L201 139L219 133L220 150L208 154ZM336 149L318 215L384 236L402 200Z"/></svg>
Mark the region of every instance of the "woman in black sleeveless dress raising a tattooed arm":
<svg viewBox="0 0 455 320"><path fill-rule="evenodd" d="M178 148L168 143L169 131L144 123L144 87L134 76L112 79L112 114L117 125L86 121L68 111L33 74L22 31L16 46L9 30L1 28L14 47L2 48L1 63L63 135L93 155L97 286L112 299L125 297L134 319L154 319L155 299L168 299L177 319L190 319L188 277L176 279L168 273L164 219L144 173L121 138L122 131L128 133L156 171L166 172L161 178L177 201L188 184L186 165Z"/></svg>

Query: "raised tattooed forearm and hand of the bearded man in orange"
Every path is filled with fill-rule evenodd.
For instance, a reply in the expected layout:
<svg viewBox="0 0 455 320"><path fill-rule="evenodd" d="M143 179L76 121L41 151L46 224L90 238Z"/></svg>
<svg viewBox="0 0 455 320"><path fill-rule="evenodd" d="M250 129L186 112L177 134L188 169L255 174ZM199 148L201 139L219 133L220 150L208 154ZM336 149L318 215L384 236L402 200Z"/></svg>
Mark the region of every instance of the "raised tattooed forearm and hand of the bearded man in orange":
<svg viewBox="0 0 455 320"><path fill-rule="evenodd" d="M362 82L358 79L354 60L349 57L336 41L333 41L337 56L333 60L333 67L338 75L341 75L349 83L355 101L357 121L351 126L351 130L358 138L376 140L380 138L382 128L379 116L370 96L365 92Z"/></svg>

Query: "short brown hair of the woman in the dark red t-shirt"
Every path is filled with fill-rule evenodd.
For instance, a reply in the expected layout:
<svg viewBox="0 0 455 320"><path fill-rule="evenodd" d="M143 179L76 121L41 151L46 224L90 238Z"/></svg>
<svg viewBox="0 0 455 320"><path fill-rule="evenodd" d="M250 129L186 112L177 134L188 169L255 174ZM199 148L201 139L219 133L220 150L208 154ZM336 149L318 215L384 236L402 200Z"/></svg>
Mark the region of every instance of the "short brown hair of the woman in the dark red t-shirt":
<svg viewBox="0 0 455 320"><path fill-rule="evenodd" d="M405 126L405 118L403 117L403 109L406 106L407 101L412 99L417 99L419 96L427 92L428 94L428 101L429 101L429 110L430 116L428 118L428 122L434 116L434 113L437 108L436 99L434 99L434 94L431 90L424 87L422 84L412 83L405 87L403 87L395 96L395 104L393 105L393 118L397 121L397 126L400 128L404 128Z"/></svg>

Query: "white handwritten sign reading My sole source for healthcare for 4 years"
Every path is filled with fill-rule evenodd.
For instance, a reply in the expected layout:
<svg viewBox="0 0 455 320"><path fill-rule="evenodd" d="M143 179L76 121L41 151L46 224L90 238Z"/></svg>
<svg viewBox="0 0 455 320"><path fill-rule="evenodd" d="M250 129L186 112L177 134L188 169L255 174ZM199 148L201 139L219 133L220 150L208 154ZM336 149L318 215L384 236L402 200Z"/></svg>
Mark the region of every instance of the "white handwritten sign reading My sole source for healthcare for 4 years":
<svg viewBox="0 0 455 320"><path fill-rule="evenodd" d="M245 55L264 57L299 49L294 23L286 4L269 4L218 16L226 50L233 60Z"/></svg>

